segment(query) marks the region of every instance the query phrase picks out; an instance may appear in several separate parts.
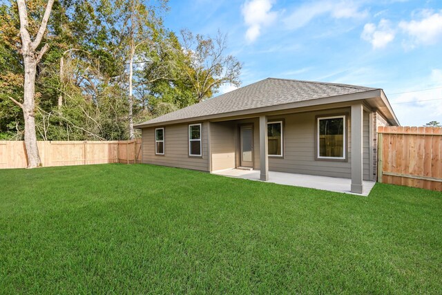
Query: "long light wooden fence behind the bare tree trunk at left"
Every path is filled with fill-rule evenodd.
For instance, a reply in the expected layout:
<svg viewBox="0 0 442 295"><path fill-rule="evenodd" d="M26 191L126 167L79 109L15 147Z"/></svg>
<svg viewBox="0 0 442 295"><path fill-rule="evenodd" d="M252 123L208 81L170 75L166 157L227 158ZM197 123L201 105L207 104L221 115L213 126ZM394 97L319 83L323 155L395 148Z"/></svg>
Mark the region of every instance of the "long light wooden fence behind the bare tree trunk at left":
<svg viewBox="0 0 442 295"><path fill-rule="evenodd" d="M68 166L141 162L141 140L108 142L37 142L41 165ZM25 144L0 141L0 169L26 168Z"/></svg>

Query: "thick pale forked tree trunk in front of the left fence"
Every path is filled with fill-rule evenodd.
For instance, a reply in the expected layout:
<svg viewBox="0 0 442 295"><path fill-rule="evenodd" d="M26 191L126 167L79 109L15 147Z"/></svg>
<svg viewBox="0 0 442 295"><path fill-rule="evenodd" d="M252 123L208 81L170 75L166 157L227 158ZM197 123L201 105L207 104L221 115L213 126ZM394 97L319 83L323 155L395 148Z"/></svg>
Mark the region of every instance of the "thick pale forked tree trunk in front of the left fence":
<svg viewBox="0 0 442 295"><path fill-rule="evenodd" d="M35 133L35 75L37 73L37 64L49 48L49 45L45 44L41 49L37 50L46 32L53 3L54 0L48 0L37 35L32 40L28 31L29 23L26 3L24 0L17 0L20 19L21 55L23 56L24 65L23 104L17 102L12 97L10 98L23 110L28 168L41 166L37 135Z"/></svg>

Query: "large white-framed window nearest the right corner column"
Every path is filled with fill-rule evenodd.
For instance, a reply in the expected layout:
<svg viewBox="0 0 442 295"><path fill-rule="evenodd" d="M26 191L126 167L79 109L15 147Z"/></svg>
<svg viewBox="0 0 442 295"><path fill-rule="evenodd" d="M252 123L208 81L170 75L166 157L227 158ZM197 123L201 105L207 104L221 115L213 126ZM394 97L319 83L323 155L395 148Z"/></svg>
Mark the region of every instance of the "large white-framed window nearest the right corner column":
<svg viewBox="0 0 442 295"><path fill-rule="evenodd" d="M345 160L345 115L318 117L317 158Z"/></svg>

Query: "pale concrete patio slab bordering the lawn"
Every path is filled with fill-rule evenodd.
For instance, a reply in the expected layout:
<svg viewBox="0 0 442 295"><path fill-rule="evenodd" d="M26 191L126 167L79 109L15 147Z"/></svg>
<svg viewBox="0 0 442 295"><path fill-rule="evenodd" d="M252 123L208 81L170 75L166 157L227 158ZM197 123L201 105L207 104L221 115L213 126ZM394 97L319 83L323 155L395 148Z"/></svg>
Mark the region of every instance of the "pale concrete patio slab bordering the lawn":
<svg viewBox="0 0 442 295"><path fill-rule="evenodd" d="M227 169L221 171L213 171L212 174L260 181L259 170L246 171L240 169ZM338 193L351 193L358 196L368 196L370 191L372 191L374 184L376 184L376 182L373 181L363 181L363 193L352 193L350 192L350 185L352 184L352 180L348 178L332 178L327 176L305 175L276 171L269 171L268 182L292 185L294 187L308 187L311 189L336 191Z"/></svg>

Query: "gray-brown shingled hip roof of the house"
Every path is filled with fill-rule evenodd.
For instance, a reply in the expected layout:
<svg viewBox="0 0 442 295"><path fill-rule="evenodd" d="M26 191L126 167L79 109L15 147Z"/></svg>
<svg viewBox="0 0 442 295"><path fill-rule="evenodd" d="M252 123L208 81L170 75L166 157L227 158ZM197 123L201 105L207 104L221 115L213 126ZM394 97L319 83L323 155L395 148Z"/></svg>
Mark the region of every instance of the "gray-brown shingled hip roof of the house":
<svg viewBox="0 0 442 295"><path fill-rule="evenodd" d="M137 126L191 118L196 119L206 115L231 113L377 89L346 84L267 78L218 97L204 100L204 102L199 104L193 104L178 111L137 124Z"/></svg>

